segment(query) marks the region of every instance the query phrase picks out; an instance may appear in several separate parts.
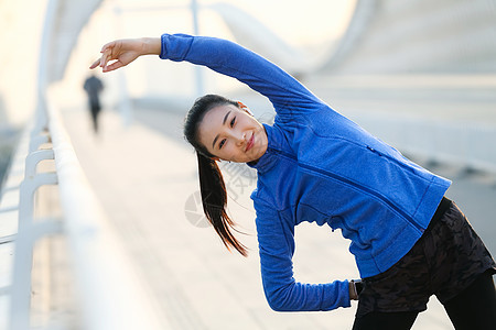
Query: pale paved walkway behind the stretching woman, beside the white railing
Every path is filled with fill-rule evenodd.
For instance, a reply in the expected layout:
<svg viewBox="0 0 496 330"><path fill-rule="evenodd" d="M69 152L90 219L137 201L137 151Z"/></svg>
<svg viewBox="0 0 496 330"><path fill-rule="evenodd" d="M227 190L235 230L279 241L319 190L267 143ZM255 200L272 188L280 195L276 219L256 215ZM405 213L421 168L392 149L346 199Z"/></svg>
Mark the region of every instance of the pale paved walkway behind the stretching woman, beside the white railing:
<svg viewBox="0 0 496 330"><path fill-rule="evenodd" d="M182 141L182 114L137 109L125 128L111 111L94 136L83 109L64 112L67 131L97 196L174 329L349 329L356 310L279 314L266 302L259 274L252 173L223 164L229 210L246 235L248 258L229 253L202 219L196 160ZM149 125L139 121L149 122ZM150 129L157 128L157 130ZM242 165L245 166L245 165ZM339 232L296 228L295 278L324 283L357 278ZM413 329L452 329L435 297Z"/></svg>

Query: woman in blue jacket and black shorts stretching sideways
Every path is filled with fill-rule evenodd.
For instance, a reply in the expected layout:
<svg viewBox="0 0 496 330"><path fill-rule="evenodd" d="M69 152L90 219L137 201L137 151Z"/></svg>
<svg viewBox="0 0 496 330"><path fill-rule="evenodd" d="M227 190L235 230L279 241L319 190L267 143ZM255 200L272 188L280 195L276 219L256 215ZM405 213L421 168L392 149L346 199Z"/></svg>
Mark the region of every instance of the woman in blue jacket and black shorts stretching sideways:
<svg viewBox="0 0 496 330"><path fill-rule="evenodd" d="M278 311L332 310L358 299L354 329L410 329L433 294L457 329L496 323L496 265L460 209L450 182L342 117L282 69L225 40L163 34L106 44L90 68L111 72L142 55L186 61L231 76L269 98L273 125L219 96L200 98L184 133L197 152L203 206L227 248L233 234L219 160L258 173L251 198L263 289ZM114 62L115 61L115 62ZM363 282L296 283L294 226L341 229Z"/></svg>

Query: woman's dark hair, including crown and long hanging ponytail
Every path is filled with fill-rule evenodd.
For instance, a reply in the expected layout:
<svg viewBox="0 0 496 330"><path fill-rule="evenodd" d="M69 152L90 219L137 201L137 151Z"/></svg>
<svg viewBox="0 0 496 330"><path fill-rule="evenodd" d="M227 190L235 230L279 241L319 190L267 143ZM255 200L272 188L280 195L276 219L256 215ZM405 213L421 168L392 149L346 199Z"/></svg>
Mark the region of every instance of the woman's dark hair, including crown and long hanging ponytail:
<svg viewBox="0 0 496 330"><path fill-rule="evenodd" d="M247 249L233 234L236 229L234 221L226 212L227 193L224 178L217 163L206 147L200 143L198 127L205 114L213 108L223 105L239 107L236 101L226 99L218 95L206 95L196 99L184 120L184 138L196 150L198 158L200 191L205 217L220 237L224 245L230 250L236 249L240 254L247 256Z"/></svg>

